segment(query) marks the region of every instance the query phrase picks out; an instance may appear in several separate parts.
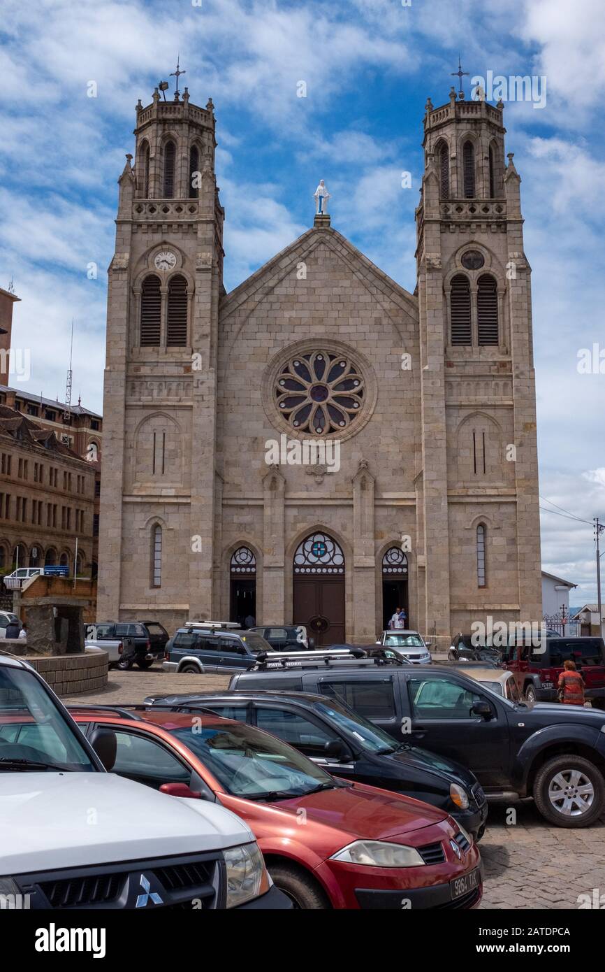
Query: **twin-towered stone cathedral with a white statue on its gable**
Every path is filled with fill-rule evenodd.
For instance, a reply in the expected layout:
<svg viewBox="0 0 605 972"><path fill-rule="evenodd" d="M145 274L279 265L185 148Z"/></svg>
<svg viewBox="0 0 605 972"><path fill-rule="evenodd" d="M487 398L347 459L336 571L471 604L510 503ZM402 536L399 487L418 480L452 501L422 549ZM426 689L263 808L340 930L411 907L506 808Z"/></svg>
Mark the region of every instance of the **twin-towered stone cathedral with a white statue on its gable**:
<svg viewBox="0 0 605 972"><path fill-rule="evenodd" d="M172 633L252 614L318 644L374 642L398 606L433 644L488 615L539 621L530 268L502 103L426 103L414 294L331 226L327 196L227 294L212 101L155 89L136 113L99 619Z"/></svg>

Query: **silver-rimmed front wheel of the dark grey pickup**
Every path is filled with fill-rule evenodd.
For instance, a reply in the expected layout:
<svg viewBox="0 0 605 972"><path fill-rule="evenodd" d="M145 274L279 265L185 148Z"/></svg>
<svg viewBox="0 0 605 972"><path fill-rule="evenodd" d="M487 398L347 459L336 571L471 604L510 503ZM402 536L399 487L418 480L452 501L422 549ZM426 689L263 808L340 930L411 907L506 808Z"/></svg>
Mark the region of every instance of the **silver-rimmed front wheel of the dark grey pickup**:
<svg viewBox="0 0 605 972"><path fill-rule="evenodd" d="M603 813L605 782L584 756L556 756L538 771L533 798L557 827L588 827Z"/></svg>

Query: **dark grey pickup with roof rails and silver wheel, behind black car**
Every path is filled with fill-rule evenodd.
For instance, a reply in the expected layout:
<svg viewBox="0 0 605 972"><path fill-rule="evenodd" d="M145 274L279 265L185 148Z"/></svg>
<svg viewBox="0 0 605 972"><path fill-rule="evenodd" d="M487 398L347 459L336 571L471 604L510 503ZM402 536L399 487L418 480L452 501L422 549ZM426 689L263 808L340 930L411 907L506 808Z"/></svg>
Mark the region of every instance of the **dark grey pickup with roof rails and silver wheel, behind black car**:
<svg viewBox="0 0 605 972"><path fill-rule="evenodd" d="M361 667L363 666L363 667ZM605 712L514 703L459 669L436 666L254 671L232 689L286 689L338 699L384 729L467 766L488 793L533 797L559 827L584 827L605 811Z"/></svg>

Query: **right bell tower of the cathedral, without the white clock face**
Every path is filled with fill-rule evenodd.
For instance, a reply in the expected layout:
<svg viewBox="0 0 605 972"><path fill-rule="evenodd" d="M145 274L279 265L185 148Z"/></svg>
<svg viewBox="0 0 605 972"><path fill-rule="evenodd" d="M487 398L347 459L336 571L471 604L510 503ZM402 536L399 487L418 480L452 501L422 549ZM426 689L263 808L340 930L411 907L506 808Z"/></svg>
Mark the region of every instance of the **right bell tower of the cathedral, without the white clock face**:
<svg viewBox="0 0 605 972"><path fill-rule="evenodd" d="M444 638L488 614L542 618L530 267L503 108L453 87L424 115L419 617Z"/></svg>

